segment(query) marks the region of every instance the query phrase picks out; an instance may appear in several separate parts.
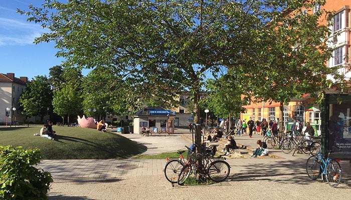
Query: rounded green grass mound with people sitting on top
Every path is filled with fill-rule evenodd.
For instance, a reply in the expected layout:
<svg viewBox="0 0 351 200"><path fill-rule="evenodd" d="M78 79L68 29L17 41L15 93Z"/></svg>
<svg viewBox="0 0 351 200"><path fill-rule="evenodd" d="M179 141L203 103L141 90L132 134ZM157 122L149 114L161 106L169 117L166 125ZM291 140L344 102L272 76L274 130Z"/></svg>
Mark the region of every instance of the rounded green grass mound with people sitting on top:
<svg viewBox="0 0 351 200"><path fill-rule="evenodd" d="M0 128L0 145L38 147L44 159L127 158L146 150L146 146L113 132L91 128L53 126L57 139L41 136L40 126Z"/></svg>

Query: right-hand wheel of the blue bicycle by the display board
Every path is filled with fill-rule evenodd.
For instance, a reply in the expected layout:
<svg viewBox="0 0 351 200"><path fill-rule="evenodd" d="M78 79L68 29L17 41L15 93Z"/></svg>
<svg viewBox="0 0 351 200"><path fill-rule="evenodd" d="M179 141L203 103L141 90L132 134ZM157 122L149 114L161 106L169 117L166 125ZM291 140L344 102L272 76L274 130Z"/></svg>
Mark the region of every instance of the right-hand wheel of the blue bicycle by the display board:
<svg viewBox="0 0 351 200"><path fill-rule="evenodd" d="M341 167L338 161L330 159L326 166L325 179L332 187L336 187L341 181Z"/></svg>

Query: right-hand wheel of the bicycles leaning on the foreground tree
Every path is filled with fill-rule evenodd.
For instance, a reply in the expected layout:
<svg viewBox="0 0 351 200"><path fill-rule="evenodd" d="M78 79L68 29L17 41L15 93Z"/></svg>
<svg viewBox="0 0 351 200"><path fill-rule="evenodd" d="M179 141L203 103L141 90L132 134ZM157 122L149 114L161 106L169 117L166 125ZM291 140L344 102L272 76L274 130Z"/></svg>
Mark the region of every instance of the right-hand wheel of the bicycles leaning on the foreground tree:
<svg viewBox="0 0 351 200"><path fill-rule="evenodd" d="M224 160L216 160L207 168L207 174L213 181L220 182L225 180L230 173L230 166Z"/></svg>

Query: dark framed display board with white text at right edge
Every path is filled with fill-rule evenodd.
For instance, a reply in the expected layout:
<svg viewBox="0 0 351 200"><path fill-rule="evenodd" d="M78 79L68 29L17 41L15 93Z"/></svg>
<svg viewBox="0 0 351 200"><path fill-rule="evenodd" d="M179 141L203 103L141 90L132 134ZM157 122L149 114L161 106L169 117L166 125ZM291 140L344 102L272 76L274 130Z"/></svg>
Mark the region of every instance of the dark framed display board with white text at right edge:
<svg viewBox="0 0 351 200"><path fill-rule="evenodd" d="M335 158L351 158L351 95L329 95L328 149Z"/></svg>

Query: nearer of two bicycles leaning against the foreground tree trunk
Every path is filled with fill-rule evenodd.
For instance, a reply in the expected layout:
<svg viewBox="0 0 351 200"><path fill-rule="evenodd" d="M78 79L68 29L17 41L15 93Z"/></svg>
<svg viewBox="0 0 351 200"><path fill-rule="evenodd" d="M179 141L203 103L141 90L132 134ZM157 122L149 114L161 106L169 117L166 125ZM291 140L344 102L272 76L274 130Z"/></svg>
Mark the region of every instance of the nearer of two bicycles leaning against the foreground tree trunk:
<svg viewBox="0 0 351 200"><path fill-rule="evenodd" d="M178 175L178 184L183 185L191 173L195 173L195 175L200 174L215 182L225 180L229 176L230 166L228 162L221 158L222 155L214 157L213 152L206 153L205 156L201 153L192 153ZM198 161L201 161L203 164L197 164Z"/></svg>

